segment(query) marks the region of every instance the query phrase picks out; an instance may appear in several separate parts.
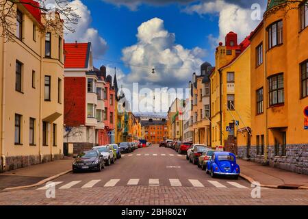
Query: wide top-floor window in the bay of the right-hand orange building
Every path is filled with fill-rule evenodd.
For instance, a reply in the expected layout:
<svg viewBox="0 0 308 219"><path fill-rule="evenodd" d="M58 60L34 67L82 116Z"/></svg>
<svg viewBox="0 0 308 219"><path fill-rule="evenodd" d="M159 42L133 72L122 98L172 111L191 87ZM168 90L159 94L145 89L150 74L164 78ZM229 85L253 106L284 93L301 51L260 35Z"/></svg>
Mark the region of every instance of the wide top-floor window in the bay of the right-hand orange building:
<svg viewBox="0 0 308 219"><path fill-rule="evenodd" d="M277 21L268 27L268 49L283 43L283 22Z"/></svg>

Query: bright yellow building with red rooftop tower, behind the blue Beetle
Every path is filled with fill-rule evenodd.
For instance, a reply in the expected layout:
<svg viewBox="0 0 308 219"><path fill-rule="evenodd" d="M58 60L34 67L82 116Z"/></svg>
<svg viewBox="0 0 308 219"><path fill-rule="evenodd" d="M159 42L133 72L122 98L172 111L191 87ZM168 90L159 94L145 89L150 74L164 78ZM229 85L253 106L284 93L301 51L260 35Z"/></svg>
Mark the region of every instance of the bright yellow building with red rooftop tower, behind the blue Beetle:
<svg viewBox="0 0 308 219"><path fill-rule="evenodd" d="M230 32L216 48L216 68L211 73L211 146L236 153L238 130L251 126L249 37L238 44ZM241 135L244 132L241 131ZM246 144L245 144L246 145Z"/></svg>

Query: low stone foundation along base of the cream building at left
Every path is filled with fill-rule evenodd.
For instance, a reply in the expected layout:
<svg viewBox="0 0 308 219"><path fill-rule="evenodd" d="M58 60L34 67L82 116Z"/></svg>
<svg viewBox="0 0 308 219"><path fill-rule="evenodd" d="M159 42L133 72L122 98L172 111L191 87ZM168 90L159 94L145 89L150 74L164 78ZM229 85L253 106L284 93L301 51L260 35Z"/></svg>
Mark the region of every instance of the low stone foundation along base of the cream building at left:
<svg viewBox="0 0 308 219"><path fill-rule="evenodd" d="M56 154L53 155L53 159L63 159L64 155ZM51 155L43 155L42 163L51 162ZM13 157L5 157L5 170L2 170L2 159L0 159L0 172L15 170L18 168L23 168L35 164L40 164L40 156L39 155L27 155L27 156L13 156Z"/></svg>

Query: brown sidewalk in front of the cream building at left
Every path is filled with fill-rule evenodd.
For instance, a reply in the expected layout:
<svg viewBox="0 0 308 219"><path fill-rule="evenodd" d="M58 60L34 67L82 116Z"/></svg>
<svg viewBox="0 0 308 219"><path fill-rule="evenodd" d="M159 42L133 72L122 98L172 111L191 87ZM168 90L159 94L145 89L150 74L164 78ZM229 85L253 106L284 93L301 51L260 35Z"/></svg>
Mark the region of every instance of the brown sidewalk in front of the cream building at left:
<svg viewBox="0 0 308 219"><path fill-rule="evenodd" d="M73 158L65 157L54 162L36 164L0 174L0 190L38 183L49 177L71 170Z"/></svg>

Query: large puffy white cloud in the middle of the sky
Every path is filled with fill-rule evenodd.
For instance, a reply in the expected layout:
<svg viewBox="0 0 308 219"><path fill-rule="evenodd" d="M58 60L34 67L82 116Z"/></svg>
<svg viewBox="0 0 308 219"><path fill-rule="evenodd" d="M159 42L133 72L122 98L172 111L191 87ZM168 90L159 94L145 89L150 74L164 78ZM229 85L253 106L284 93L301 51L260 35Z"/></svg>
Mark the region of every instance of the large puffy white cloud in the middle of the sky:
<svg viewBox="0 0 308 219"><path fill-rule="evenodd" d="M148 87L186 87L194 70L202 64L205 51L199 47L185 49L175 43L175 34L164 28L164 21L152 18L138 27L138 42L123 49L123 62L131 73L127 83ZM155 74L152 74L152 66Z"/></svg>

